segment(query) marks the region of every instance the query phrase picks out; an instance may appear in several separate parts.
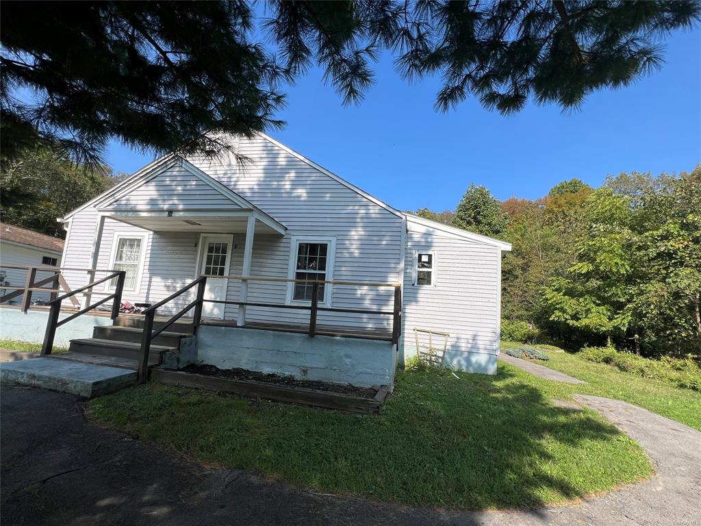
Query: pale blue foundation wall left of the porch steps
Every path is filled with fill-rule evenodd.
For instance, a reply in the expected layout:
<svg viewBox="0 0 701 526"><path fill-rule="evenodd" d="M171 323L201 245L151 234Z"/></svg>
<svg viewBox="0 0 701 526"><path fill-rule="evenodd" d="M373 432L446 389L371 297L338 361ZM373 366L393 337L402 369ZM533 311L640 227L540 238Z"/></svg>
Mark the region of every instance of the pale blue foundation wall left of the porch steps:
<svg viewBox="0 0 701 526"><path fill-rule="evenodd" d="M61 313L59 320L71 316L71 313ZM32 311L27 313L19 309L0 307L0 339L14 339L21 342L32 342L41 345L48 311ZM83 314L73 321L57 328L54 345L67 347L70 340L76 338L92 338L95 325L112 325L109 316L91 316Z"/></svg>

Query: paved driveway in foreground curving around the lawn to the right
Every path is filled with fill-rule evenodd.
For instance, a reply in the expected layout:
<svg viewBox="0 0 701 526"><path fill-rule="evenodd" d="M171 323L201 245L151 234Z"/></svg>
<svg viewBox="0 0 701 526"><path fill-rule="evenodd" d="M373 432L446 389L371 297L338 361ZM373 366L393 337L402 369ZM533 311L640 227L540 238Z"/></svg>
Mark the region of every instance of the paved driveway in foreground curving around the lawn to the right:
<svg viewBox="0 0 701 526"><path fill-rule="evenodd" d="M318 494L207 468L91 425L64 393L3 386L0 400L2 513L12 525L701 525L701 433L606 398L578 401L637 440L655 477L583 504L486 513Z"/></svg>

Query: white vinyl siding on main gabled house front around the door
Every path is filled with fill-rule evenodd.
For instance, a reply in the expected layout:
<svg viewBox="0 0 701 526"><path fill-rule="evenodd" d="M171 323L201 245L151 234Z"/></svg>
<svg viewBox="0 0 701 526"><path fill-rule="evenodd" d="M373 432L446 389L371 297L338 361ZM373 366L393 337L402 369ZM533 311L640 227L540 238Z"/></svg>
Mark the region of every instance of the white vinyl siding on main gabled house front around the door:
<svg viewBox="0 0 701 526"><path fill-rule="evenodd" d="M396 283L400 281L400 255L402 254L402 218L381 208L373 201L301 161L296 156L276 146L263 137L240 141L239 153L250 159L243 168L236 159L214 162L191 159L191 162L217 181L247 199L275 220L287 227L284 236L256 234L253 243L251 274L287 278L293 236L320 236L335 238L334 279L340 281L369 281ZM176 177L179 168L169 168L151 182L143 184L123 196L122 208L212 208L215 196L204 201L197 191L177 191ZM169 187L156 184L168 180ZM192 177L177 180L186 187ZM196 183L197 184L197 183ZM211 188L211 187L208 187ZM165 191L170 189L171 193ZM221 196L222 194L218 194ZM218 197L216 198L218 199ZM216 201L224 206L223 201ZM233 205L233 203L231 203ZM66 266L89 267L90 253L95 238L98 216L89 206L72 217ZM130 302L156 302L190 283L196 275L199 234L149 232L128 224L105 220L97 268L109 267L110 248L114 231L134 231L147 234L143 277L137 292L125 294ZM219 231L217 234L228 234ZM234 234L231 255L231 275L240 275L243 262L245 234ZM70 274L72 286L87 283L84 273ZM287 283L251 282L248 301L256 303L287 302ZM227 299L238 301L240 282L229 281ZM328 294L329 292L327 292ZM392 310L392 288L358 288L336 285L333 288L332 306L349 309ZM191 298L184 295L172 302L172 309L186 305ZM167 309L164 309L164 312ZM160 312L160 311L159 311ZM225 318L236 319L238 308L227 305ZM273 321L274 323L304 324L308 311L293 309L267 309L249 307L248 321ZM349 313L320 312L320 325L338 327L390 328L391 316L353 315Z"/></svg>

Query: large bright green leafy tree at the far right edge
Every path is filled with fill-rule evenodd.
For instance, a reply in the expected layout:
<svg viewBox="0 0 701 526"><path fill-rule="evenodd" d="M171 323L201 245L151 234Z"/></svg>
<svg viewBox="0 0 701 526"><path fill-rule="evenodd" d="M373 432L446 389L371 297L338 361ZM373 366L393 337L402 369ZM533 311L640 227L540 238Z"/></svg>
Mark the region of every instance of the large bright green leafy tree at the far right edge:
<svg viewBox="0 0 701 526"><path fill-rule="evenodd" d="M701 166L610 178L587 201L576 257L543 290L560 335L701 356Z"/></svg>

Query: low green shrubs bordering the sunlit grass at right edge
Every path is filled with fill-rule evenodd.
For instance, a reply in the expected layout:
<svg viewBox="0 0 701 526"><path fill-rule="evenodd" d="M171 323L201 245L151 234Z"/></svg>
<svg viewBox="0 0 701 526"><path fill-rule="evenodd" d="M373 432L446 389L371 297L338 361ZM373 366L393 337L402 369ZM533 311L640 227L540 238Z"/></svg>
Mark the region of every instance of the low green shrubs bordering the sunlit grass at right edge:
<svg viewBox="0 0 701 526"><path fill-rule="evenodd" d="M622 353L613 347L585 347L579 356L597 363L607 363L618 369L644 378L661 380L686 389L701 391L701 367L690 358L660 360L643 358L637 354Z"/></svg>

